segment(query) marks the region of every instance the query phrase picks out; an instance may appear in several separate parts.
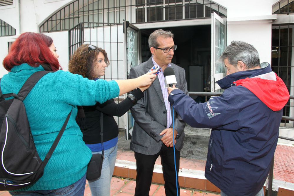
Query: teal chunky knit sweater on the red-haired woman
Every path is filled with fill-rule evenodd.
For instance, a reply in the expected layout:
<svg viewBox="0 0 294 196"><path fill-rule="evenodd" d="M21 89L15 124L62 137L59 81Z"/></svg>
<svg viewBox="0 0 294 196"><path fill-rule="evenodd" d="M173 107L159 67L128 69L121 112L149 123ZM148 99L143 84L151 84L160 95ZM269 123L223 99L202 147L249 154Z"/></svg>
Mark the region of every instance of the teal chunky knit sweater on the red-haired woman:
<svg viewBox="0 0 294 196"><path fill-rule="evenodd" d="M26 79L41 66L16 65L1 79L2 93L18 93ZM117 97L119 87L115 81L88 80L78 74L59 70L42 77L24 99L38 154L44 160L66 116L71 117L44 175L32 186L22 190L52 190L66 187L85 175L91 159L91 150L83 142L83 135L75 118L76 105L95 105Z"/></svg>

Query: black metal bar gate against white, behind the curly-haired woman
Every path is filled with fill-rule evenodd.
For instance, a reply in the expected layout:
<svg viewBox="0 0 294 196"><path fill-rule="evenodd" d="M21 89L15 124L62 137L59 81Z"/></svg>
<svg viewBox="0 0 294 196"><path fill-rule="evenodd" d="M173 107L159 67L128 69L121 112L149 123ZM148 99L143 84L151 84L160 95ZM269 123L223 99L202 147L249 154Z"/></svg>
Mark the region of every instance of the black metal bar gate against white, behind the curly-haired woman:
<svg viewBox="0 0 294 196"><path fill-rule="evenodd" d="M76 25L69 30L69 55L82 44L92 44L103 48L107 52L110 65L107 67L105 75L100 79L119 80L126 79L124 53L123 25L116 23L90 23L84 22ZM121 102L125 97L115 98L116 103ZM120 127L123 117L114 117L117 119L118 127ZM124 124L124 123L122 123ZM123 126L123 125L121 125Z"/></svg>

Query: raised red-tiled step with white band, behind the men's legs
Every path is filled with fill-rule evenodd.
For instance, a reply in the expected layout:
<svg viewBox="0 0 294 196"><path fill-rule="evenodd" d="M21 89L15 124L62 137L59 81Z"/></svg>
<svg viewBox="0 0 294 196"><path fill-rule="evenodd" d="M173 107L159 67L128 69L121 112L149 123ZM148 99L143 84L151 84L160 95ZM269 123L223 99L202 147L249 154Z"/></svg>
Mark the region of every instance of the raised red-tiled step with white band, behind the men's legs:
<svg viewBox="0 0 294 196"><path fill-rule="evenodd" d="M210 190L214 194L219 194L220 190L211 184L204 177L206 161L195 159L180 159L179 182L181 187L194 190L194 195L206 195L207 192L198 193L199 189ZM160 164L160 157L156 160L153 173L153 182L163 184ZM135 179L135 158L132 151L118 150L116 168L114 175L124 176ZM134 182L135 183L135 182ZM265 183L268 187L268 182ZM264 187L265 188L265 187ZM184 190L184 189L183 189ZM273 190L277 195L294 195L294 146L278 144L275 151L274 171L273 171ZM163 191L164 194L164 191ZM180 195L183 193L181 192ZM185 192L187 194L187 192ZM209 193L210 194L210 193ZM152 195L151 193L149 195ZM160 195L156 192L154 195ZM184 195L184 194L183 194Z"/></svg>

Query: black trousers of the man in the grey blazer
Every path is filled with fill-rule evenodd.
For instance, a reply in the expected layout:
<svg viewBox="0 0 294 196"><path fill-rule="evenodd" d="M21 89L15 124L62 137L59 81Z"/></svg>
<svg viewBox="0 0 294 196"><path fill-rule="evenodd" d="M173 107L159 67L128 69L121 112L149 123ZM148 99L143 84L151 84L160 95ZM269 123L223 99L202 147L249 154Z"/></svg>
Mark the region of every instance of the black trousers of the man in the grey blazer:
<svg viewBox="0 0 294 196"><path fill-rule="evenodd" d="M177 176L179 174L180 152L181 151L175 149ZM178 195L180 195L179 181L177 181L178 190L176 190L176 172L173 147L166 147L166 145L162 144L161 150L156 155L143 155L141 153L135 152L137 164L135 196L149 195L153 168L155 161L159 155L161 157L163 179L165 182L164 189L166 196L176 196L177 191Z"/></svg>

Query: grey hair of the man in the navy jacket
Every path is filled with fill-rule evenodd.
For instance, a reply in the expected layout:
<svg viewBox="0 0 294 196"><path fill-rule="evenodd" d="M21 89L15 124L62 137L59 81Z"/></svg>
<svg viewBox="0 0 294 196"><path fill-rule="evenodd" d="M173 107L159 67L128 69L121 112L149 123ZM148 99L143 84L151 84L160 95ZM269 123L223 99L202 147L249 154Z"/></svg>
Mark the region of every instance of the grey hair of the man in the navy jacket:
<svg viewBox="0 0 294 196"><path fill-rule="evenodd" d="M228 58L228 62L237 67L238 61L242 61L247 69L260 66L260 59L257 50L245 41L232 41L225 48L218 62L223 62Z"/></svg>

